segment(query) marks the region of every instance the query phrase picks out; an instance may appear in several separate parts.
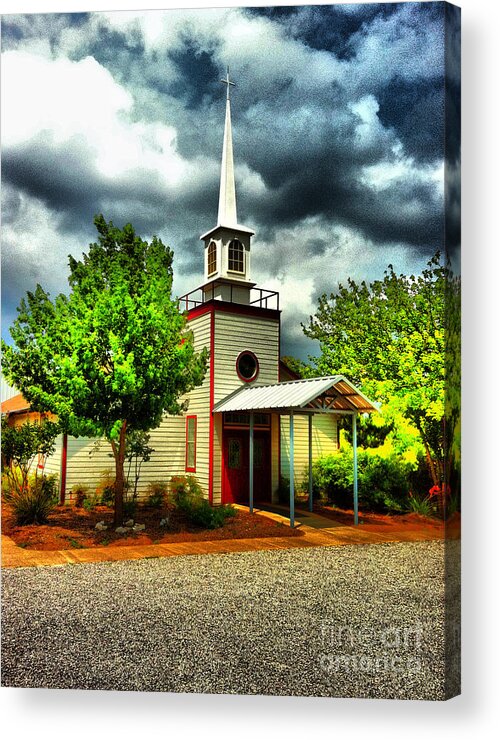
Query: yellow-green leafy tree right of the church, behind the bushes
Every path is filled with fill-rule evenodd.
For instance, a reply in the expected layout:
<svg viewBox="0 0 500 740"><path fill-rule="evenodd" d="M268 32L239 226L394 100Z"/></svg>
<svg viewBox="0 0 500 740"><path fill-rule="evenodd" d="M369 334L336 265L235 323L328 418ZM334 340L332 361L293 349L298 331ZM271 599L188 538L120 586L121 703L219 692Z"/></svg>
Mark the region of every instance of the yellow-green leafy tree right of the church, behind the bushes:
<svg viewBox="0 0 500 740"><path fill-rule="evenodd" d="M445 381L449 341L446 306L459 283L437 253L421 275L397 275L389 265L383 280L349 279L323 295L304 327L320 343L312 358L320 374L340 373L376 400L397 397L418 430L434 484L445 470ZM456 340L455 340L456 342Z"/></svg>

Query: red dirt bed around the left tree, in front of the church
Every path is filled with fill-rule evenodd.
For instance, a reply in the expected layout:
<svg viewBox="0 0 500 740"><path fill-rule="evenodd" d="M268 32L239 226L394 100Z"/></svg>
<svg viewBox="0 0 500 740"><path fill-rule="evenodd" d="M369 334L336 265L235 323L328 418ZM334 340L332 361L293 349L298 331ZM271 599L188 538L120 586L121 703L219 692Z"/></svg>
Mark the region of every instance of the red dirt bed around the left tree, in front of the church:
<svg viewBox="0 0 500 740"><path fill-rule="evenodd" d="M113 511L108 506L97 506L86 511L75 506L57 506L47 524L16 526L12 510L2 502L2 533L11 537L16 545L27 550L68 550L80 547L106 545L152 545L168 542L197 542L206 540L245 539L250 537L300 537L300 529L290 529L284 524L263 516L238 511L226 520L220 529L188 527L185 520L171 513L171 528L160 527L165 510L139 508L135 515L137 524L145 524L144 532L117 534L112 528ZM109 529L94 530L97 522L104 521Z"/></svg>

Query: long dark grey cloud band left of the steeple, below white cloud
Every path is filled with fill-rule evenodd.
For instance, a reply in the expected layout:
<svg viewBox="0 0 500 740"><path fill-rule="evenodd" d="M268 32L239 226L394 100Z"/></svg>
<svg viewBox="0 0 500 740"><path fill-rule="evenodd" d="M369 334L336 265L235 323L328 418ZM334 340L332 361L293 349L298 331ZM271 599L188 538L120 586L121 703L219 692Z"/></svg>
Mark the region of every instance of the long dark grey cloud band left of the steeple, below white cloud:
<svg viewBox="0 0 500 740"><path fill-rule="evenodd" d="M47 133L4 149L2 174L4 182L12 186L4 206L6 223L15 220L16 189L58 214L59 228L67 231L85 228L100 212L120 225L133 221L138 232L147 234L157 233L183 213L196 214L201 229L202 223L213 219L216 204L216 198L210 198L214 187L205 180L186 183L173 193L160 182L156 171L104 177L96 168L95 153L83 139L56 144ZM194 226L191 224L192 229Z"/></svg>

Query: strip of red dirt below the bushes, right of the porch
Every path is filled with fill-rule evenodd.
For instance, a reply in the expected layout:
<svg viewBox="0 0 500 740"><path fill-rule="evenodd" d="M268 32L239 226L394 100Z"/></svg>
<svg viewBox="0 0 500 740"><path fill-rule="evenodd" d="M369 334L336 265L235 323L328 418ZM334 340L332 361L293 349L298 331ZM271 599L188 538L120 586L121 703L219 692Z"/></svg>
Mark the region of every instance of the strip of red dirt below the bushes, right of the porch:
<svg viewBox="0 0 500 740"><path fill-rule="evenodd" d="M354 520L354 511L336 509L334 506L316 506L314 509L318 514L329 519L351 527ZM458 539L460 537L460 514L454 514L445 523L440 519L433 519L420 514L374 514L370 512L359 512L359 524L367 532L390 533L391 530L404 530L405 532L428 532L429 534L444 535L446 529L447 539Z"/></svg>

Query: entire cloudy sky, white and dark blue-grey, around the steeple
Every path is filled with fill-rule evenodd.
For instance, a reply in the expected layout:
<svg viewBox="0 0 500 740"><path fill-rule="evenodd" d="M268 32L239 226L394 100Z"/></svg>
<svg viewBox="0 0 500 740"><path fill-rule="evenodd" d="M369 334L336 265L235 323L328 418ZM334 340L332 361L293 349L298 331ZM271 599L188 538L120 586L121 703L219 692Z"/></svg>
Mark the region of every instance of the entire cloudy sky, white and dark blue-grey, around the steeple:
<svg viewBox="0 0 500 740"><path fill-rule="evenodd" d="M281 293L283 353L314 352L319 295L443 249L445 22L443 3L3 16L2 336L37 282L67 289L97 213L174 249L177 294L200 284L229 64L253 278Z"/></svg>

